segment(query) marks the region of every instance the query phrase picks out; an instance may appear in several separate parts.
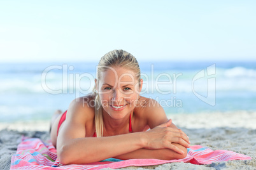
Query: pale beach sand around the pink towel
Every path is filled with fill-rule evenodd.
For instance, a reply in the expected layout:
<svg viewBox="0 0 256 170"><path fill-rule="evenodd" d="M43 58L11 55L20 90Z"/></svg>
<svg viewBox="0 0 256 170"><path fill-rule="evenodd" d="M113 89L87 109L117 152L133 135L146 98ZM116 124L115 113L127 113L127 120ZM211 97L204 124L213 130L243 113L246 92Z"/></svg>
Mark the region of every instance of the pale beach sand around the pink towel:
<svg viewBox="0 0 256 170"><path fill-rule="evenodd" d="M192 145L203 145L213 150L232 150L252 157L252 160L230 160L209 165L183 162L159 166L125 167L123 169L256 169L256 112L212 112L171 115L174 124L190 138ZM37 127L34 127L34 125ZM22 135L49 138L49 122L0 123L0 169L10 169L11 155L15 154Z"/></svg>

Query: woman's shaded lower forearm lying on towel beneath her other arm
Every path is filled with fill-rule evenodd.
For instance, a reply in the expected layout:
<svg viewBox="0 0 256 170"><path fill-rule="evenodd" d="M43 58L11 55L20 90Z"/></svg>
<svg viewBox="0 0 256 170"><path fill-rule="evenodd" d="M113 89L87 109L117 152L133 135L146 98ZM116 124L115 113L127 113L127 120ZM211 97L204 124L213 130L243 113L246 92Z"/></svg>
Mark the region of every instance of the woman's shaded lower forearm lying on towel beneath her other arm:
<svg viewBox="0 0 256 170"><path fill-rule="evenodd" d="M187 148L183 147L178 143L173 143L176 147L183 150L184 154L178 154L169 148L163 149L146 149L140 148L138 150L134 150L127 154L118 155L117 159L162 159L162 160L172 160L172 159L183 159L187 157Z"/></svg>

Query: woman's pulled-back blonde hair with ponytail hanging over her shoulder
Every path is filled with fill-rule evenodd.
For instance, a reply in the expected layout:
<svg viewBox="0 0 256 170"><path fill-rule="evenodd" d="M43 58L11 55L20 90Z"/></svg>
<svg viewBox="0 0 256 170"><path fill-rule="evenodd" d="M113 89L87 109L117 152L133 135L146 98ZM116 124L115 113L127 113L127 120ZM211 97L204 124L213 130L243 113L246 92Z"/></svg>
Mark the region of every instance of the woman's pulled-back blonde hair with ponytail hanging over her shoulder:
<svg viewBox="0 0 256 170"><path fill-rule="evenodd" d="M110 67L124 67L125 69L131 69L134 71L136 75L136 79L139 81L141 79L141 71L139 69L139 63L136 58L132 56L130 53L119 49L113 50L109 53L106 53L101 60L99 60L99 64L97 67L96 79L99 81L101 79L101 72L106 71ZM139 84L141 86L141 84ZM97 93L96 86L93 89L95 96L94 107L95 107L95 129L97 137L103 136L103 107L101 106L101 101L99 98L99 93Z"/></svg>

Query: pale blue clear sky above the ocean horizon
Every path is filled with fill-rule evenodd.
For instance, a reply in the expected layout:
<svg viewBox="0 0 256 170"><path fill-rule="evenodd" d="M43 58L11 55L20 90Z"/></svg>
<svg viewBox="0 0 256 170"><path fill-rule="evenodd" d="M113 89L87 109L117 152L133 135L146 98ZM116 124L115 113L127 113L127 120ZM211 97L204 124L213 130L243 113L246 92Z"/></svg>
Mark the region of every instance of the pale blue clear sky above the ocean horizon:
<svg viewBox="0 0 256 170"><path fill-rule="evenodd" d="M0 62L255 61L256 1L0 0Z"/></svg>

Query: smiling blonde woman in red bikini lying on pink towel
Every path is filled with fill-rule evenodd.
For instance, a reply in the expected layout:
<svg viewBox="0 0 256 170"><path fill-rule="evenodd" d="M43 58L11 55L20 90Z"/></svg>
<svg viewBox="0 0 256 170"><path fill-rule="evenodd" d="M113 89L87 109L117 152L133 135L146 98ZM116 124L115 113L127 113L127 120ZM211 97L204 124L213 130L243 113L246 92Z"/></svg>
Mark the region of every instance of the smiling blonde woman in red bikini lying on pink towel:
<svg viewBox="0 0 256 170"><path fill-rule="evenodd" d="M187 156L188 136L168 121L155 100L139 95L143 81L134 56L110 51L99 61L96 78L94 93L76 98L52 120L60 164Z"/></svg>

